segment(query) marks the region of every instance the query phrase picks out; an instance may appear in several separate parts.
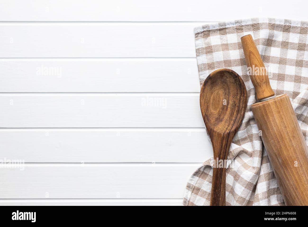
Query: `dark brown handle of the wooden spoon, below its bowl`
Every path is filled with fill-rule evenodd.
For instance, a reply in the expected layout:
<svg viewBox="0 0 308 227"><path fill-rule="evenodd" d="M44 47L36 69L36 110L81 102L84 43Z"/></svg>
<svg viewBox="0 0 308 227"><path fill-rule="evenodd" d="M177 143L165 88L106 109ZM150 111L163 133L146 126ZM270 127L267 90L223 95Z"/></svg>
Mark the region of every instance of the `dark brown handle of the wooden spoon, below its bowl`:
<svg viewBox="0 0 308 227"><path fill-rule="evenodd" d="M212 133L214 163L210 206L226 205L226 164L234 134L235 132Z"/></svg>

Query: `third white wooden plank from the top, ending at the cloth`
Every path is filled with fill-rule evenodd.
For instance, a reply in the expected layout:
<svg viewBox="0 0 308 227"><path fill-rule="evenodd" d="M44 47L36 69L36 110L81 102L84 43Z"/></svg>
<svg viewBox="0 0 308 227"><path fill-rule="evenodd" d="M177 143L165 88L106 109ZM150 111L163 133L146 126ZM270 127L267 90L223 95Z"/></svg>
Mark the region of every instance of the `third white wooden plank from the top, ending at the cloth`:
<svg viewBox="0 0 308 227"><path fill-rule="evenodd" d="M196 58L0 59L1 92L199 92Z"/></svg>

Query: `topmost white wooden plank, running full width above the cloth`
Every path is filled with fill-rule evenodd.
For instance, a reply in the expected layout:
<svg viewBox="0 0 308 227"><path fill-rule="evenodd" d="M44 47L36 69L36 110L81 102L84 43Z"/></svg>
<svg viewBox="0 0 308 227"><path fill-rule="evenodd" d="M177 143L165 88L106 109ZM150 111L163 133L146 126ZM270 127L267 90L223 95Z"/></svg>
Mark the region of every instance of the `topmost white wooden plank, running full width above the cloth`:
<svg viewBox="0 0 308 227"><path fill-rule="evenodd" d="M0 20L5 21L217 21L250 17L308 20L306 2L294 0L1 0ZM287 7L286 7L287 6ZM26 9L26 10L25 10ZM253 10L248 10L253 9ZM218 13L219 12L219 13Z"/></svg>

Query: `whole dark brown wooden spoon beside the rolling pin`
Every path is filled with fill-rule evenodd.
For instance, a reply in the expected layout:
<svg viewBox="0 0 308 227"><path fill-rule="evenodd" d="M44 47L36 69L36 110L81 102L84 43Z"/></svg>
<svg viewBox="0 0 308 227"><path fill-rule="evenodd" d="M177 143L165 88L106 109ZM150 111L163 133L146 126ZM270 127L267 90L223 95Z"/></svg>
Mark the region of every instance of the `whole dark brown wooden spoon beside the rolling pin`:
<svg viewBox="0 0 308 227"><path fill-rule="evenodd" d="M245 84L231 69L214 71L201 87L200 108L214 153L211 206L225 206L226 166L217 166L217 162L225 164L233 137L243 120L246 105Z"/></svg>

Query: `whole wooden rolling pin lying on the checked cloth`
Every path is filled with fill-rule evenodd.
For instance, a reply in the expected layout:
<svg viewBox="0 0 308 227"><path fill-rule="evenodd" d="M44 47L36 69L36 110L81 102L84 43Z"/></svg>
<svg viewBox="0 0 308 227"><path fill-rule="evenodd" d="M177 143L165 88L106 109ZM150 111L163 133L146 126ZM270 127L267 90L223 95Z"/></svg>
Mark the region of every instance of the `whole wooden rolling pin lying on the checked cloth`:
<svg viewBox="0 0 308 227"><path fill-rule="evenodd" d="M251 35L241 37L259 102L251 106L259 134L287 206L308 205L308 151L288 95L274 95Z"/></svg>

